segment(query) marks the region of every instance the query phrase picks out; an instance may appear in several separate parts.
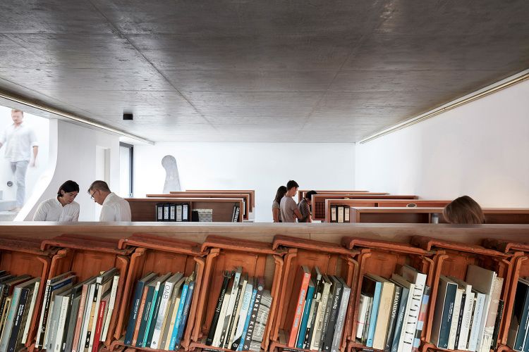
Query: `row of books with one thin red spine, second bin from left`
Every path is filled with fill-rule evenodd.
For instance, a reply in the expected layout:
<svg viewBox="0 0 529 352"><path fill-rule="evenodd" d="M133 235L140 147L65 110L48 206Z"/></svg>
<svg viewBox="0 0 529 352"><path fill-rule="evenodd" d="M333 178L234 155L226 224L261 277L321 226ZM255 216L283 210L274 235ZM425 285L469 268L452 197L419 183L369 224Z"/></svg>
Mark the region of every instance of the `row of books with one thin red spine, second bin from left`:
<svg viewBox="0 0 529 352"><path fill-rule="evenodd" d="M75 284L73 272L48 279L35 347L47 351L98 351L106 341L119 272L111 268Z"/></svg>

